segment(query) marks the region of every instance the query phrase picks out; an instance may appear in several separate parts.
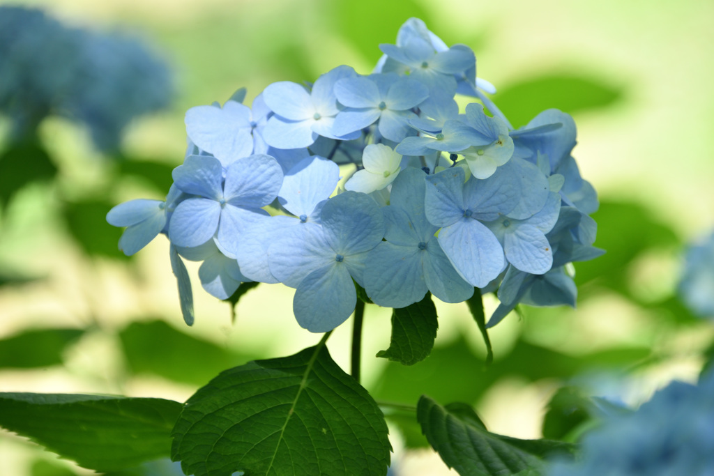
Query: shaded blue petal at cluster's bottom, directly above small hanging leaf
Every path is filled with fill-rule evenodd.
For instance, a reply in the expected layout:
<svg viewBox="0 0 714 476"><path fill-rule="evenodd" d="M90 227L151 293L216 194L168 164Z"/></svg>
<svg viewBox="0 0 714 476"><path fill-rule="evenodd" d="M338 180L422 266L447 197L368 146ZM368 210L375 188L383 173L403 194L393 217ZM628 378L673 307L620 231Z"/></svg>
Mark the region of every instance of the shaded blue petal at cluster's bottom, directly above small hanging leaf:
<svg viewBox="0 0 714 476"><path fill-rule="evenodd" d="M427 291L423 254L416 245L379 243L369 252L364 270L369 298L387 308L405 308L422 300Z"/></svg>

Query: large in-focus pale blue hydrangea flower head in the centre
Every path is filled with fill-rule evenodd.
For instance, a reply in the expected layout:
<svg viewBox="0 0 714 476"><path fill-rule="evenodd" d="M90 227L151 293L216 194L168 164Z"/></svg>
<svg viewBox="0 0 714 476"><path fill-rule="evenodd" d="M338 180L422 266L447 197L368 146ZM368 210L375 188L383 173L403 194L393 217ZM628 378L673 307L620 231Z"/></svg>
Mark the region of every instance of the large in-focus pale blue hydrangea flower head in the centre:
<svg viewBox="0 0 714 476"><path fill-rule="evenodd" d="M245 91L191 108L166 201L109 213L128 227L126 254L168 236L186 322L181 257L203 260L217 298L247 280L295 288L296 319L316 333L351 315L355 283L391 308L498 290L489 325L518 303L575 305L567 265L602 251L597 197L570 155L573 119L552 109L513 129L473 51L421 20L380 48L368 75L338 66L313 84L273 83L251 108ZM456 94L478 102L462 113ZM336 191L341 173L351 176Z"/></svg>

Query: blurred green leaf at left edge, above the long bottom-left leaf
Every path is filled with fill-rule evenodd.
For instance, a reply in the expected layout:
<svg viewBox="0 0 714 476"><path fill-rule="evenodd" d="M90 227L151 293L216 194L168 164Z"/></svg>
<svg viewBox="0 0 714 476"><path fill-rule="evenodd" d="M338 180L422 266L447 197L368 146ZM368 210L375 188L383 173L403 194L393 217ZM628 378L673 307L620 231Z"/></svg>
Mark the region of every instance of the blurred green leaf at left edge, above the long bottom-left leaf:
<svg viewBox="0 0 714 476"><path fill-rule="evenodd" d="M36 329L0 340L0 368L61 364L64 349L82 334L81 329Z"/></svg>

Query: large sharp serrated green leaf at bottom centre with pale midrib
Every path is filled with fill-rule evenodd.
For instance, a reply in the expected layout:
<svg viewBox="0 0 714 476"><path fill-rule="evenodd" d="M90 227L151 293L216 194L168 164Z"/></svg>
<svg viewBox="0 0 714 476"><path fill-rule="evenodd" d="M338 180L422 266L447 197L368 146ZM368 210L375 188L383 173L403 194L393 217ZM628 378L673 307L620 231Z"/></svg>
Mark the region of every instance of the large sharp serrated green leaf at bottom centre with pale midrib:
<svg viewBox="0 0 714 476"><path fill-rule="evenodd" d="M174 428L186 474L384 475L381 410L321 342L226 370L193 395Z"/></svg>

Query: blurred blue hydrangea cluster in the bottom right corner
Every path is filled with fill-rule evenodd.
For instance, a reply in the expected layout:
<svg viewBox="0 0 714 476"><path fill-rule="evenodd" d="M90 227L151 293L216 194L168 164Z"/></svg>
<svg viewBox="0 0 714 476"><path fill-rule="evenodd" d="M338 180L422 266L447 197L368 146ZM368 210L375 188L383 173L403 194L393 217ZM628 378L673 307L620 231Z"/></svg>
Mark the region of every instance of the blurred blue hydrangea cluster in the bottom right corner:
<svg viewBox="0 0 714 476"><path fill-rule="evenodd" d="M549 476L708 476L714 468L714 373L674 382L630 414L607 418L583 438L583 457Z"/></svg>

